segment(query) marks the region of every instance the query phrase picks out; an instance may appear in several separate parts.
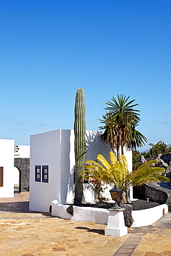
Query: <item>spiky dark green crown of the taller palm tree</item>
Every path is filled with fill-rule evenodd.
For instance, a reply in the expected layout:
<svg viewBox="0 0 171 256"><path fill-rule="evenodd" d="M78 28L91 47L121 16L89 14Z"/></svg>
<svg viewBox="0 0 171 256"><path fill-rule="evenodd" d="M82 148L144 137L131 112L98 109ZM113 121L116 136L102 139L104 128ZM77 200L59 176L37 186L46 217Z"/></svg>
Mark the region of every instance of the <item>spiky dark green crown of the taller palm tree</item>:
<svg viewBox="0 0 171 256"><path fill-rule="evenodd" d="M139 111L134 109L138 104L132 104L134 100L128 101L129 97L126 98L124 95L118 95L118 101L114 97L111 100L111 102L106 103L109 105L106 108L109 112L100 120L104 124L100 129L105 129L100 140L108 143L111 149L116 147L119 158L120 148L123 154L124 146L127 149L142 147L147 142L147 138L136 130L136 126L141 120Z"/></svg>

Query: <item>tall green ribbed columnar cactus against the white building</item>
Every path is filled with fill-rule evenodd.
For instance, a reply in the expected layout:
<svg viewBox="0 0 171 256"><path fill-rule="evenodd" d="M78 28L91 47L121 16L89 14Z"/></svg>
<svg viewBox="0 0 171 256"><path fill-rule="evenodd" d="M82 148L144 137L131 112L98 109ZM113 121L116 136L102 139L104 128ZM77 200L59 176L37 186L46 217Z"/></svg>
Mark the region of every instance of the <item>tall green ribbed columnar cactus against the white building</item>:
<svg viewBox="0 0 171 256"><path fill-rule="evenodd" d="M75 199L74 203L79 204L82 202L82 176L80 172L84 170L85 158L86 158L86 122L85 122L85 100L84 90L79 88L75 98L75 122L74 122L74 134L75 134Z"/></svg>

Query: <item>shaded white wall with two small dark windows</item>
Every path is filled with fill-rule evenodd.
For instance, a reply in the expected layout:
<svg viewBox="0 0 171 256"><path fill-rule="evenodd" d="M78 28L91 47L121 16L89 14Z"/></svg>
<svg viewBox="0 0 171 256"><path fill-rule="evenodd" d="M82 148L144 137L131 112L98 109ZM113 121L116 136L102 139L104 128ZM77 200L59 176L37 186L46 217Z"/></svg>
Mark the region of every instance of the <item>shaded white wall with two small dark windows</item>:
<svg viewBox="0 0 171 256"><path fill-rule="evenodd" d="M61 130L30 136L30 210L48 212L60 200L60 142ZM35 181L35 165L48 165L48 183Z"/></svg>

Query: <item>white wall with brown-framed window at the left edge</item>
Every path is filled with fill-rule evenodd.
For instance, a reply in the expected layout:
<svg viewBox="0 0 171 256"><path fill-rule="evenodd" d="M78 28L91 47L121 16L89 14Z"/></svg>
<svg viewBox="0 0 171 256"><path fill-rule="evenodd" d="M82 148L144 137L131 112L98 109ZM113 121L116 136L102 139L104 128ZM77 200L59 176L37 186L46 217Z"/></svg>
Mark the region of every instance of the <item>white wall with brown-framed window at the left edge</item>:
<svg viewBox="0 0 171 256"><path fill-rule="evenodd" d="M3 187L0 187L0 197L14 196L14 147L15 140L0 139L0 167L3 167Z"/></svg>

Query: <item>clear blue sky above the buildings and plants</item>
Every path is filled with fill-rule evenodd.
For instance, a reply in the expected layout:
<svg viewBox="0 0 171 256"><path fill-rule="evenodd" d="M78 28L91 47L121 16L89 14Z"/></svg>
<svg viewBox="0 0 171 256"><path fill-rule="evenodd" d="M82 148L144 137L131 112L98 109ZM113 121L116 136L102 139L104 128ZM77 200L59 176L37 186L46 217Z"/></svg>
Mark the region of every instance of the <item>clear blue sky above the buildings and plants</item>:
<svg viewBox="0 0 171 256"><path fill-rule="evenodd" d="M82 87L87 129L130 95L148 143L170 144L170 31L170 0L0 0L0 138L73 129Z"/></svg>

